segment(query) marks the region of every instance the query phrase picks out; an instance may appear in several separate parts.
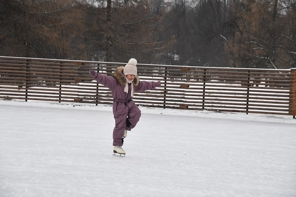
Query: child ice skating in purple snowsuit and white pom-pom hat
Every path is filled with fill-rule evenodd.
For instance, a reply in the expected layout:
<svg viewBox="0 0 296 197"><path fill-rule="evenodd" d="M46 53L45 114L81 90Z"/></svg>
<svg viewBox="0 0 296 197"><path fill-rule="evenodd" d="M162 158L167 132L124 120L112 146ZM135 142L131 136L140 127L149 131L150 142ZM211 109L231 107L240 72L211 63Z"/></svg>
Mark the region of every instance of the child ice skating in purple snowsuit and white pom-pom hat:
<svg viewBox="0 0 296 197"><path fill-rule="evenodd" d="M134 92L152 90L160 86L160 81L140 81L137 75L137 60L131 58L125 66L119 66L113 71L113 76L100 74L90 70L89 74L99 83L111 90L113 97L113 153L125 155L122 149L123 139L127 131L133 129L141 117L139 107L132 100Z"/></svg>

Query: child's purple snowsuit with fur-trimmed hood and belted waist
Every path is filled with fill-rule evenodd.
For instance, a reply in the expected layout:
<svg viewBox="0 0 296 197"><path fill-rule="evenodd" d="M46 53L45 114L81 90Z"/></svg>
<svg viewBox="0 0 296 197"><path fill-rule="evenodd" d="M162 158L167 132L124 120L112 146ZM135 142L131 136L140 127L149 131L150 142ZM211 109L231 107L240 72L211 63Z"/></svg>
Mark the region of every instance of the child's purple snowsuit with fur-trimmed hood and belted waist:
<svg viewBox="0 0 296 197"><path fill-rule="evenodd" d="M126 83L123 74L124 66L118 67L113 72L113 76L99 74L95 80L111 90L113 97L113 115L115 127L113 129L113 146L123 145L124 130L130 131L136 126L141 117L141 111L131 97L131 84L128 93L124 92ZM138 75L134 78L134 92L152 90L156 87L156 82L140 81Z"/></svg>

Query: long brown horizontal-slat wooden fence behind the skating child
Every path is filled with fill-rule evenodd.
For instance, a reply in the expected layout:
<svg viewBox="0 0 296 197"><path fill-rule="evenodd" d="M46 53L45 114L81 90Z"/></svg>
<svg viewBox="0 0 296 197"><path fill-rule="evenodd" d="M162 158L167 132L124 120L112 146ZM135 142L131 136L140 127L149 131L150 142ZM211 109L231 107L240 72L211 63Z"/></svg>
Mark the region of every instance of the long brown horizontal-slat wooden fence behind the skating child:
<svg viewBox="0 0 296 197"><path fill-rule="evenodd" d="M112 75L125 63L0 56L0 99L112 104L111 91L90 69ZM138 64L140 80L162 82L136 92L144 107L296 115L296 69Z"/></svg>

